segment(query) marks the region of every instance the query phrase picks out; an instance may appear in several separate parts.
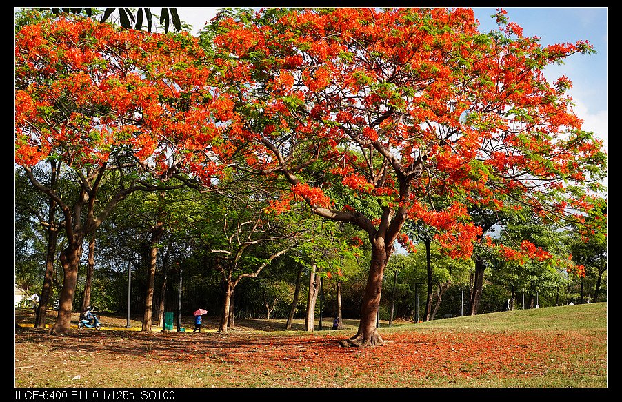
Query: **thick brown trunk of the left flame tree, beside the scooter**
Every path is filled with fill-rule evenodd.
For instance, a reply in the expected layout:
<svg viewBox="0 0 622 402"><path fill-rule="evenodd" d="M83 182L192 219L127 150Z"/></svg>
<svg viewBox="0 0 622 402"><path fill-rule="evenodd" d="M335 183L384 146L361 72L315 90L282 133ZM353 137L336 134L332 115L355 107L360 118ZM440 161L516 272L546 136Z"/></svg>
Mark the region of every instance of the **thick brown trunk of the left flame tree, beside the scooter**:
<svg viewBox="0 0 622 402"><path fill-rule="evenodd" d="M63 287L59 303L59 314L50 334L66 335L71 330L71 313L73 298L78 282L78 265L82 256L82 238L72 241L61 251L60 260L63 265Z"/></svg>

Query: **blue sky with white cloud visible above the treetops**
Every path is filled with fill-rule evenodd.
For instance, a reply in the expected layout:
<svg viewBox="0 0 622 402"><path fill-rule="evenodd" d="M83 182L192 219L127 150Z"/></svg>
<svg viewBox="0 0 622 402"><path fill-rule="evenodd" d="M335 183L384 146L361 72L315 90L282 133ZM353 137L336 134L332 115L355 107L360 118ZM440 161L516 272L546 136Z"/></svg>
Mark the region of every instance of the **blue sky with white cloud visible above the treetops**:
<svg viewBox="0 0 622 402"><path fill-rule="evenodd" d="M179 18L192 25L194 32L214 17L216 7L179 7ZM496 30L496 22L490 16L496 7L474 7L480 30ZM539 37L542 46L554 43L590 42L596 54L575 54L562 66L550 66L545 70L548 80L565 75L572 81L569 93L576 106L574 111L584 119L583 129L592 131L605 140L607 145L607 31L608 8L606 7L508 7L507 17L523 28L523 35Z"/></svg>

